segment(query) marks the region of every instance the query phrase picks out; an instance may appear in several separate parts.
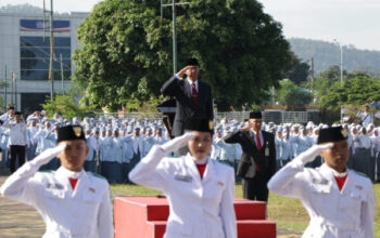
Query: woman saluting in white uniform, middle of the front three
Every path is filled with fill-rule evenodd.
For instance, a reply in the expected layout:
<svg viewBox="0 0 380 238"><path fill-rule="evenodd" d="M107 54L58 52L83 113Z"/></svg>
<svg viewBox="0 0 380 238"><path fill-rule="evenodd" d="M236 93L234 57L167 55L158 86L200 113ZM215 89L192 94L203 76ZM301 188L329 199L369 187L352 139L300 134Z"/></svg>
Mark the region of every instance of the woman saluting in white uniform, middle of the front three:
<svg viewBox="0 0 380 238"><path fill-rule="evenodd" d="M170 214L164 238L236 238L233 169L211 159L213 124L207 119L185 121L187 133L155 145L129 177L162 190ZM165 157L188 145L190 153Z"/></svg>

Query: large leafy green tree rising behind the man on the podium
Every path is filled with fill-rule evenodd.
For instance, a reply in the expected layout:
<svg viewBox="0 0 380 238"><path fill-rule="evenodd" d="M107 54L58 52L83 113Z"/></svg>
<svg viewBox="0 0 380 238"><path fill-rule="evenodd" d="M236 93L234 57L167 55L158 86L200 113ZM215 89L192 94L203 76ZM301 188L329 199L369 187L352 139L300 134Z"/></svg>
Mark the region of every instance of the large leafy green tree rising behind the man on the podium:
<svg viewBox="0 0 380 238"><path fill-rule="evenodd" d="M74 80L84 101L115 110L159 95L173 72L172 9L157 0L105 0L79 26ZM255 0L191 0L177 9L179 67L198 57L219 109L259 104L290 68L281 25Z"/></svg>

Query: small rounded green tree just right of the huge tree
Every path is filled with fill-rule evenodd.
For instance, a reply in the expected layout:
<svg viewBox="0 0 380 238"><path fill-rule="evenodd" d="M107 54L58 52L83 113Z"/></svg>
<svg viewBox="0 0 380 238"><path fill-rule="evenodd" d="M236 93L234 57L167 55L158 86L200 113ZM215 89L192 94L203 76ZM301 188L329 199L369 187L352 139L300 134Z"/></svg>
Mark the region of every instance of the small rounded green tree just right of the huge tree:
<svg viewBox="0 0 380 238"><path fill-rule="evenodd" d="M282 106L308 105L312 102L312 93L290 80L283 80L276 91L276 101Z"/></svg>

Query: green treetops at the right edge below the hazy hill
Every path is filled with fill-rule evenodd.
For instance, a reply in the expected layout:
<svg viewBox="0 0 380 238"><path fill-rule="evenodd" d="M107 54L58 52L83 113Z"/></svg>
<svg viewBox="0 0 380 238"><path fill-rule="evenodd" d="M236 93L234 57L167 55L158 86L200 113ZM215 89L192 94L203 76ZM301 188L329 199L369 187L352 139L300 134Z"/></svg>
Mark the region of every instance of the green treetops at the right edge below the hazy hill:
<svg viewBox="0 0 380 238"><path fill-rule="evenodd" d="M359 76L344 80L343 84L332 84L327 93L320 96L319 104L327 109L337 110L345 105L360 106L379 100L380 80Z"/></svg>

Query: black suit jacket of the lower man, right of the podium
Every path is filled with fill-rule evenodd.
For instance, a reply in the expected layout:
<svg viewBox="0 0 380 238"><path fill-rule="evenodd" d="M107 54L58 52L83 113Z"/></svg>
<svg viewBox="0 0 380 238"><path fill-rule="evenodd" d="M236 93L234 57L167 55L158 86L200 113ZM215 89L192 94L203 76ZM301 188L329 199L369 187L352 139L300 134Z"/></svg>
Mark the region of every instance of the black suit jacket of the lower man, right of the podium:
<svg viewBox="0 0 380 238"><path fill-rule="evenodd" d="M268 132L262 131L264 143L258 151L254 134L251 130L236 131L224 137L226 143L239 143L242 147L242 155L238 166L237 175L245 178L252 178L256 175L256 167L264 174L265 180L269 181L276 173L276 146L275 136ZM269 155L265 150L269 149Z"/></svg>

